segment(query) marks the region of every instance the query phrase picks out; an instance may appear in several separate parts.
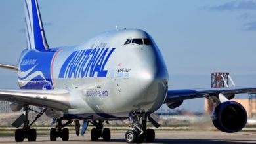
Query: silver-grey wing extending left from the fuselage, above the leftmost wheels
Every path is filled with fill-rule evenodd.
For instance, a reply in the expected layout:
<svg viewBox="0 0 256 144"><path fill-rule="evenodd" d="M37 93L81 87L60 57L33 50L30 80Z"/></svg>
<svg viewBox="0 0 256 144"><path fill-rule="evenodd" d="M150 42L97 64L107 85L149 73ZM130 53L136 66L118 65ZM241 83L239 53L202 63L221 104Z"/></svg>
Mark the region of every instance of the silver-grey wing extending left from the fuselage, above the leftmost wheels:
<svg viewBox="0 0 256 144"><path fill-rule="evenodd" d="M70 107L68 90L1 90L0 100L64 111Z"/></svg>

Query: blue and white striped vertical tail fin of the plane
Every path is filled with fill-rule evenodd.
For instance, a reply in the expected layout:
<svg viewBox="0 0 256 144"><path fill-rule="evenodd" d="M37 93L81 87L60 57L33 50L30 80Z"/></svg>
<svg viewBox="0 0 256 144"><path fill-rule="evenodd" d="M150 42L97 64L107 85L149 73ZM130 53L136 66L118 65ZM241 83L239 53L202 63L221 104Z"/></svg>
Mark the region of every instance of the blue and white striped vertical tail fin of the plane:
<svg viewBox="0 0 256 144"><path fill-rule="evenodd" d="M25 20L27 45L29 50L45 51L49 49L37 0L25 0Z"/></svg>

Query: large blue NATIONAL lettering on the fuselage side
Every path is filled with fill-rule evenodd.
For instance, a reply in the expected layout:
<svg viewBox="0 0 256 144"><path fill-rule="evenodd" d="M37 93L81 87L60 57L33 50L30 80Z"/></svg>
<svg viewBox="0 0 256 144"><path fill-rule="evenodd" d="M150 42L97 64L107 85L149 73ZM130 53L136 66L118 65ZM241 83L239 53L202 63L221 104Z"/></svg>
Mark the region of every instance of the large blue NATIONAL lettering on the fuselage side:
<svg viewBox="0 0 256 144"><path fill-rule="evenodd" d="M106 62L116 48L93 48L72 52L62 65L60 78L106 77Z"/></svg>

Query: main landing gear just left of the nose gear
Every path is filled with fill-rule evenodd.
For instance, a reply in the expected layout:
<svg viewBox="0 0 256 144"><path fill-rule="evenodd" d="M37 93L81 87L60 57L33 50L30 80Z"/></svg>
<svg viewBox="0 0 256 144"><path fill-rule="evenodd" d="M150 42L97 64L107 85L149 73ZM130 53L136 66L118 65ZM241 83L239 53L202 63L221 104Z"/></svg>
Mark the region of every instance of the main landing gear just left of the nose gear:
<svg viewBox="0 0 256 144"><path fill-rule="evenodd" d="M99 120L98 122L95 121L90 121L91 124L96 126L96 128L93 128L91 130L91 141L98 141L100 137L103 138L103 141L110 141L111 139L111 134L110 134L110 129L109 128L104 128L103 129L103 122L102 120ZM108 121L106 121L108 124Z"/></svg>

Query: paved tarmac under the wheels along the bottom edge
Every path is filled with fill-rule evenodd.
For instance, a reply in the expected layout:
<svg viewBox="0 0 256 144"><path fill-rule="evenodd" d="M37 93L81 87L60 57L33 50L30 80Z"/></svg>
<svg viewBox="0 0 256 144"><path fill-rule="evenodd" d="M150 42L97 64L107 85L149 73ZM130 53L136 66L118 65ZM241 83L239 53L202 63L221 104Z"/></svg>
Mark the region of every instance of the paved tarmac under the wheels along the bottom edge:
<svg viewBox="0 0 256 144"><path fill-rule="evenodd" d="M91 141L90 131L85 133L85 136L77 137L75 134L70 134L70 141L63 142L58 138L57 141L49 141L49 135L38 135L37 141L33 143L126 143L124 130L113 130L112 139L110 142L104 142L100 139L98 142ZM14 137L0 137L0 143L16 143ZM27 139L22 143L28 142ZM256 143L256 132L236 132L228 134L219 131L156 131L156 140L154 143Z"/></svg>

